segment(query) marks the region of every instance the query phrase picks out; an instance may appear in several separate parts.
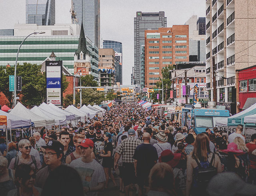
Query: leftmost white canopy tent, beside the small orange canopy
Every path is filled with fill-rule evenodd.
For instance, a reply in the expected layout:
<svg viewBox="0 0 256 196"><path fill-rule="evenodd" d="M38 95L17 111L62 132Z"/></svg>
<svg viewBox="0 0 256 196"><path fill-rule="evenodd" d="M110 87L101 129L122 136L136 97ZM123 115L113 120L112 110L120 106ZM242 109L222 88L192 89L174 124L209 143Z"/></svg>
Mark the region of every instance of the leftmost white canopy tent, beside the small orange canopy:
<svg viewBox="0 0 256 196"><path fill-rule="evenodd" d="M0 110L1 116L7 116L7 128L8 129L15 129L15 128L22 128L22 127L29 127L31 126L31 120L26 118L20 118L19 116L15 116L13 114L4 112Z"/></svg>

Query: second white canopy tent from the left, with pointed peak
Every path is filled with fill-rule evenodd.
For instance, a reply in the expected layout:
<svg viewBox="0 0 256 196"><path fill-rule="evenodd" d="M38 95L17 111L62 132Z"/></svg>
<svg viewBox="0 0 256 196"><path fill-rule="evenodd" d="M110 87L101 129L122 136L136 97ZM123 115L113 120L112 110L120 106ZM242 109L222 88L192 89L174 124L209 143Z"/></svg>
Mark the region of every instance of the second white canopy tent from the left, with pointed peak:
<svg viewBox="0 0 256 196"><path fill-rule="evenodd" d="M54 120L49 120L38 116L37 114L34 114L28 108L23 106L20 102L18 102L18 104L12 109L12 111L10 111L10 114L30 119L32 122L34 122L35 127L43 127L47 125L52 126L54 124Z"/></svg>

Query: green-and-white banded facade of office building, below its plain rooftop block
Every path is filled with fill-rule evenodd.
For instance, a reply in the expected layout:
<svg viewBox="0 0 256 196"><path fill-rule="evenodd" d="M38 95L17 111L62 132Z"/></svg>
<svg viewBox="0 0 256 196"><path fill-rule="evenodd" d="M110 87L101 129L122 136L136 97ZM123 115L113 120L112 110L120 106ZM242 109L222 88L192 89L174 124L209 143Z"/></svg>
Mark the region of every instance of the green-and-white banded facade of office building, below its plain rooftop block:
<svg viewBox="0 0 256 196"><path fill-rule="evenodd" d="M0 66L14 65L18 48L26 36L0 36ZM30 36L22 44L18 63L41 64L54 51L56 60L74 73L74 54L78 48L79 36ZM98 47L86 39L91 56L91 72L98 78Z"/></svg>

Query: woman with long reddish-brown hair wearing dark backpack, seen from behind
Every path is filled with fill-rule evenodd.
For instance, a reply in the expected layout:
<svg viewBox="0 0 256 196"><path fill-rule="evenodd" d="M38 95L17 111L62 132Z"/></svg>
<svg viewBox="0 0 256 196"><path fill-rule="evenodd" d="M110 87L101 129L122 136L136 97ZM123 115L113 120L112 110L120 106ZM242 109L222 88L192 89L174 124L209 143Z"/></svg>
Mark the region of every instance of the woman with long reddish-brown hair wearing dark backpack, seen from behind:
<svg viewBox="0 0 256 196"><path fill-rule="evenodd" d="M210 179L222 172L220 158L210 151L209 138L198 134L187 160L186 196L204 196Z"/></svg>

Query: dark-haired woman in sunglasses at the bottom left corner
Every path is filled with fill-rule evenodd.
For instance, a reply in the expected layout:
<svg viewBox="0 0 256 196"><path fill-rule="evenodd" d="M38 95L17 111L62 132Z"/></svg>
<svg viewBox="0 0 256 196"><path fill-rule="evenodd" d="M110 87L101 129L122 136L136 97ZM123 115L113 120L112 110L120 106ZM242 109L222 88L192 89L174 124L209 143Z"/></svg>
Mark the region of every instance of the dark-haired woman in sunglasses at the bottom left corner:
<svg viewBox="0 0 256 196"><path fill-rule="evenodd" d="M7 196L40 196L42 189L35 187L36 172L27 165L20 164L15 171L16 189L10 190Z"/></svg>

